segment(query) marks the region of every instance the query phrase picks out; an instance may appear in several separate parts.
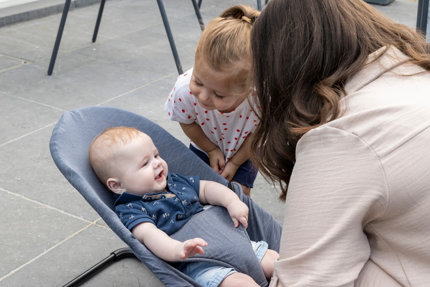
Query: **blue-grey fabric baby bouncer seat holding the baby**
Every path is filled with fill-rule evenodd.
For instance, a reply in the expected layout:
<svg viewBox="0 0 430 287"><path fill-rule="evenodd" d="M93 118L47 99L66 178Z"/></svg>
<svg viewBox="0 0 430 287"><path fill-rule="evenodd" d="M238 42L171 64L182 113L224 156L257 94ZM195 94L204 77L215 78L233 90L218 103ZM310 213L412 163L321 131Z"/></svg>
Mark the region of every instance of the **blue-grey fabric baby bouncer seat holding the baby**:
<svg viewBox="0 0 430 287"><path fill-rule="evenodd" d="M150 136L161 157L166 160L169 172L198 175L201 180L220 182L229 186L248 205L247 229L242 225L234 228L227 210L224 207L213 207L197 213L179 231L171 235L180 241L200 237L208 242L204 255L189 258L187 261L217 262L248 274L262 287L267 286L267 280L255 259L249 240L266 241L270 249L279 252L282 226L245 196L240 185L229 184L182 142L141 115L107 106L68 111L61 116L52 131L49 143L52 158L64 177L88 201L109 228L129 246L131 252L167 287L200 286L178 271L175 262L168 263L159 259L132 235L114 212L113 193L104 187L93 172L88 158L92 139L107 127L119 126L136 127ZM121 257L121 254L119 256Z"/></svg>

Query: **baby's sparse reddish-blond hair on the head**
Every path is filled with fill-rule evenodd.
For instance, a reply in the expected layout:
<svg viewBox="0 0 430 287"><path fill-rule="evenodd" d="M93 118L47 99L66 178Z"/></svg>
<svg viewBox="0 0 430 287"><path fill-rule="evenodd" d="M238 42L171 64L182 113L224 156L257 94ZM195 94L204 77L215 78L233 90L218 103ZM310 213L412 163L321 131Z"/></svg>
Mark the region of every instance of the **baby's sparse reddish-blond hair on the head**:
<svg viewBox="0 0 430 287"><path fill-rule="evenodd" d="M89 163L98 179L106 185L107 179L121 172L118 165L120 148L139 136L134 127L109 127L96 136L89 146Z"/></svg>

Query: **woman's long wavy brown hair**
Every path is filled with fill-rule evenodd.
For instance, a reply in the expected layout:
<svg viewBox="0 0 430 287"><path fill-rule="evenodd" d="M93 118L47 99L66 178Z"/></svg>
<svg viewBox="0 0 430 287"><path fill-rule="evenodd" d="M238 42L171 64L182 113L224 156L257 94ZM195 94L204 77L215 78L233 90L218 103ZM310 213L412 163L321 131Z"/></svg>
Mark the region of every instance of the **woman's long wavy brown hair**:
<svg viewBox="0 0 430 287"><path fill-rule="evenodd" d="M408 62L430 70L424 37L363 0L271 0L251 37L261 106L251 158L267 180L280 185L282 201L298 140L340 115L344 83L369 54L394 46Z"/></svg>

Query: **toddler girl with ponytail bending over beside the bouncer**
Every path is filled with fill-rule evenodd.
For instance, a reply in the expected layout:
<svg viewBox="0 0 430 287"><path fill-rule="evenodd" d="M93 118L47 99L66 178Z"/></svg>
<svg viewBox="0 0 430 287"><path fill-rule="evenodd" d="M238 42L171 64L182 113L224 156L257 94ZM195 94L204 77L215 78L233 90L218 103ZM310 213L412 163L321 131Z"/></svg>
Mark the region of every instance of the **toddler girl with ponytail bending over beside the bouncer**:
<svg viewBox="0 0 430 287"><path fill-rule="evenodd" d="M178 77L164 110L190 138L190 149L250 195L257 169L249 160L250 135L258 117L248 96L250 32L260 14L233 6L212 19L197 43L194 68Z"/></svg>

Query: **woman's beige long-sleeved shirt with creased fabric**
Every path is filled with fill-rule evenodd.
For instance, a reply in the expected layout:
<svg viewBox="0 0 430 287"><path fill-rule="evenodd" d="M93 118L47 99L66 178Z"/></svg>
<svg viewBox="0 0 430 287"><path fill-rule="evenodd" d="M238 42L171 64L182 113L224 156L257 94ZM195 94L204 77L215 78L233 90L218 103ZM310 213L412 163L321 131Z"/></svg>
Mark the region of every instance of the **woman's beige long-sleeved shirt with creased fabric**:
<svg viewBox="0 0 430 287"><path fill-rule="evenodd" d="M404 59L354 75L299 140L271 286L430 286L430 72Z"/></svg>

